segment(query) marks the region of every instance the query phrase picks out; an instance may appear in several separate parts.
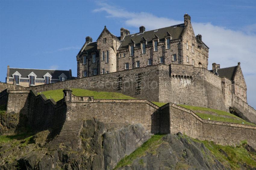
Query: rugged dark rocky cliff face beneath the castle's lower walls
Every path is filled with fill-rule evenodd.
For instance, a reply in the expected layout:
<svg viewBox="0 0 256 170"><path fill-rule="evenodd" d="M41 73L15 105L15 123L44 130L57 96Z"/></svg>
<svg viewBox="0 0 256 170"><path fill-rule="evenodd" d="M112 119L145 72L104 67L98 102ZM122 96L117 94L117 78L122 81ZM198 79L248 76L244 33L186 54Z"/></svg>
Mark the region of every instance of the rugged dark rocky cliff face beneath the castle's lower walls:
<svg viewBox="0 0 256 170"><path fill-rule="evenodd" d="M140 124L107 131L98 119L83 121L77 148L65 140L56 145L56 137L51 139L49 134L46 130L0 144L0 169L229 169L203 143L182 134L163 135L148 150L137 149L153 138ZM132 159L122 164L130 154Z"/></svg>

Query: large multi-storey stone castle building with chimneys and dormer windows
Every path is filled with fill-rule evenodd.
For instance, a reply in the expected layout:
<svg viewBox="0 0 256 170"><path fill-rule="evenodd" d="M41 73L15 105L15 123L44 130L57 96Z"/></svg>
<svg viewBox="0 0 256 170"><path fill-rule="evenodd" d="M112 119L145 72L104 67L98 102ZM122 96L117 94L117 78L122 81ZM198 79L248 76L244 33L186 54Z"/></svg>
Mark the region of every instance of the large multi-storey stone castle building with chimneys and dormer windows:
<svg viewBox="0 0 256 170"><path fill-rule="evenodd" d="M202 36L195 36L191 17L184 15L184 23L165 28L139 32L121 28L120 37L103 29L97 41L86 42L76 56L77 77L94 76L121 70L147 67L157 64L187 64L208 66L208 46Z"/></svg>

